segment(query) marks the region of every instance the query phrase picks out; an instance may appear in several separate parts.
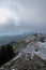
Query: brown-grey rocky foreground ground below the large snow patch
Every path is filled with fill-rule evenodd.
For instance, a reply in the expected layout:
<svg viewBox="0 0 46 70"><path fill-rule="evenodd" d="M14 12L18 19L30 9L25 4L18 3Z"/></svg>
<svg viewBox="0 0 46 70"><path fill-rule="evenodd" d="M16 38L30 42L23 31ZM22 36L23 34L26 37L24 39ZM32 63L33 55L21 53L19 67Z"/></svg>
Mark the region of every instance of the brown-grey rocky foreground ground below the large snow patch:
<svg viewBox="0 0 46 70"><path fill-rule="evenodd" d="M31 59L30 54L22 54L17 59L12 59L9 64L1 67L3 70L46 70L46 61L34 55ZM0 70L1 70L0 69Z"/></svg>

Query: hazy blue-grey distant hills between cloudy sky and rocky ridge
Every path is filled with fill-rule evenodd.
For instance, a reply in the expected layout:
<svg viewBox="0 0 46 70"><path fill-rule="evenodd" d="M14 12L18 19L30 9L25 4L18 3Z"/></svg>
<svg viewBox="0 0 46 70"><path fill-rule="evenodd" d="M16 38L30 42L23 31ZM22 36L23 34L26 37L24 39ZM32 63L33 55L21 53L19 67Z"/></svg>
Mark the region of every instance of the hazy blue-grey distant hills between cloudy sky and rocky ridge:
<svg viewBox="0 0 46 70"><path fill-rule="evenodd" d="M10 42L13 42L13 41L22 40L32 34L33 33L28 32L28 33L18 34L18 36L0 36L0 45L9 44Z"/></svg>

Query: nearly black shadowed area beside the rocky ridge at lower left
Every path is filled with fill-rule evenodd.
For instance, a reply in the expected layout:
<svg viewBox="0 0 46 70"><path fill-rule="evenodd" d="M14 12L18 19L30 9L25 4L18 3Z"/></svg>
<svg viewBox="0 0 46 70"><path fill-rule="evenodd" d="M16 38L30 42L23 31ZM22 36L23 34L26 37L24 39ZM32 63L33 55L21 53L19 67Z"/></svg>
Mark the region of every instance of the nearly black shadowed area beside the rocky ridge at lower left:
<svg viewBox="0 0 46 70"><path fill-rule="evenodd" d="M0 66L11 60L14 56L13 47L7 44L0 48Z"/></svg>

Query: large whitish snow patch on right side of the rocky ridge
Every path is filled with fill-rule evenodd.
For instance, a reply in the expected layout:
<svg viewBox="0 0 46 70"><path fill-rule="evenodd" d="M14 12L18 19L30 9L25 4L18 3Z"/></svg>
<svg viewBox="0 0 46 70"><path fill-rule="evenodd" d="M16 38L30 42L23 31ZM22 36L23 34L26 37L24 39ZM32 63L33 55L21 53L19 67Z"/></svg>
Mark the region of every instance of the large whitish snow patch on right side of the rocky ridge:
<svg viewBox="0 0 46 70"><path fill-rule="evenodd" d="M35 51L37 50L37 52ZM42 43L42 42L36 42L33 43L32 45L29 44L26 48L22 50L22 53L29 53L31 54L32 58L33 55L37 55L43 59L46 59L46 42Z"/></svg>

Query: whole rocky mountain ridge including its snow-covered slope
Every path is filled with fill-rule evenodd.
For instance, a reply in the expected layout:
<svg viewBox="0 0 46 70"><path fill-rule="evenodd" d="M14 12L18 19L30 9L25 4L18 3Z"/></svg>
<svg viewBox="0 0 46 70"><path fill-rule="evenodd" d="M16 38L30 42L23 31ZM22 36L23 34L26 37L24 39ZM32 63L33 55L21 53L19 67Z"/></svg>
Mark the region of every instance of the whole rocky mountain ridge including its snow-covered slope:
<svg viewBox="0 0 46 70"><path fill-rule="evenodd" d="M33 34L10 45L14 57L0 70L46 70L46 36Z"/></svg>

